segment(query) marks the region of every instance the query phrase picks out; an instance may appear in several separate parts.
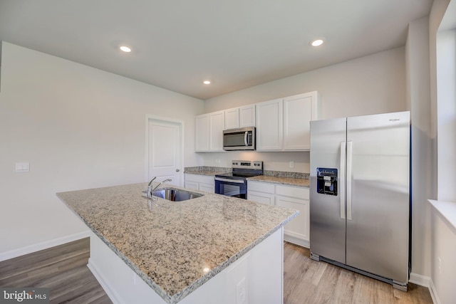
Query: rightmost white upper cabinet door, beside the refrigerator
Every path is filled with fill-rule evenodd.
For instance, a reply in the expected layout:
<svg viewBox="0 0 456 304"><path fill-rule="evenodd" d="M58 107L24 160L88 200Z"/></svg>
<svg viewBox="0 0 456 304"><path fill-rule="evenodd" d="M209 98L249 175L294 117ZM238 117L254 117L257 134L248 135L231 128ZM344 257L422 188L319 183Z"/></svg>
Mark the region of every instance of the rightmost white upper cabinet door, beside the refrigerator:
<svg viewBox="0 0 456 304"><path fill-rule="evenodd" d="M284 150L310 150L310 122L318 117L318 94L284 98Z"/></svg>

